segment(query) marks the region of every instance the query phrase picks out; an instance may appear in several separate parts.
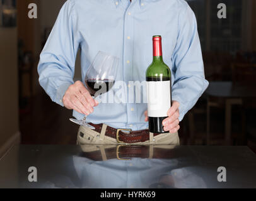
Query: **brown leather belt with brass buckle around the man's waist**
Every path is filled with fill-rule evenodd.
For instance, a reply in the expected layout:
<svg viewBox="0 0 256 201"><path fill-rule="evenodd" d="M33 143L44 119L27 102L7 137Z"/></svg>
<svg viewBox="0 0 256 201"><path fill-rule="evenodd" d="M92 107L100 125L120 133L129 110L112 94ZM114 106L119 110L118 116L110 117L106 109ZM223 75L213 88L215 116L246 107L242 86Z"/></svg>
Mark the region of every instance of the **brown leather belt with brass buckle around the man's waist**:
<svg viewBox="0 0 256 201"><path fill-rule="evenodd" d="M91 126L95 127L97 133L101 133L103 124L93 124ZM129 133L124 132L129 131ZM153 136L158 136L161 133L153 133ZM117 143L143 143L149 140L149 130L144 129L140 131L132 131L131 129L115 129L107 126L105 136L117 139Z"/></svg>

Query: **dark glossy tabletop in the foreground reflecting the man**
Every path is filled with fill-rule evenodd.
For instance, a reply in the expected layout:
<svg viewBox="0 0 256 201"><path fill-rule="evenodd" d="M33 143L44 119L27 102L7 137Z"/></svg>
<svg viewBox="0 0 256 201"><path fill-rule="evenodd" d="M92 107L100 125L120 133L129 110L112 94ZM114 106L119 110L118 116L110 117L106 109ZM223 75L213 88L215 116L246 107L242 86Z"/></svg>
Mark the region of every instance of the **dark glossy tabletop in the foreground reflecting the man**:
<svg viewBox="0 0 256 201"><path fill-rule="evenodd" d="M20 145L0 188L256 188L255 170L246 146Z"/></svg>

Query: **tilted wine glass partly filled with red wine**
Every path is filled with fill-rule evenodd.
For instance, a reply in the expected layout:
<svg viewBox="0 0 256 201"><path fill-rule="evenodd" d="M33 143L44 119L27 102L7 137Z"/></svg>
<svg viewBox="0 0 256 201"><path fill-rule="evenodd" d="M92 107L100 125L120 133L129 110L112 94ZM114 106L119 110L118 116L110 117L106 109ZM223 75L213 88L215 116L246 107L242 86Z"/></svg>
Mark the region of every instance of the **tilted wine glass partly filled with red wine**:
<svg viewBox="0 0 256 201"><path fill-rule="evenodd" d="M85 76L85 85L91 96L97 97L100 94L107 93L115 84L117 75L117 66L119 58L108 53L99 51L96 57L88 68ZM70 121L81 126L87 126L90 129L95 129L86 122L86 116L83 119L69 119Z"/></svg>

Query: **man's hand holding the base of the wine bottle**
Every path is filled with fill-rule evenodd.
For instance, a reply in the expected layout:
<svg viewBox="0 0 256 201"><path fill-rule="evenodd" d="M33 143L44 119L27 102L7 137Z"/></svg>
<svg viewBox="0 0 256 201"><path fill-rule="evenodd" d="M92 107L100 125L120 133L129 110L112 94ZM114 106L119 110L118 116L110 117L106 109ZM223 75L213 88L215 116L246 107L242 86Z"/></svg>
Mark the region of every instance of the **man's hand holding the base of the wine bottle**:
<svg viewBox="0 0 256 201"><path fill-rule="evenodd" d="M179 102L176 100L172 101L172 107L167 112L168 117L163 120L163 129L165 131L169 131L170 133L176 133L178 129L180 129L180 121L178 117L180 116L180 112L178 107L180 106ZM144 112L145 121L148 121L148 111Z"/></svg>

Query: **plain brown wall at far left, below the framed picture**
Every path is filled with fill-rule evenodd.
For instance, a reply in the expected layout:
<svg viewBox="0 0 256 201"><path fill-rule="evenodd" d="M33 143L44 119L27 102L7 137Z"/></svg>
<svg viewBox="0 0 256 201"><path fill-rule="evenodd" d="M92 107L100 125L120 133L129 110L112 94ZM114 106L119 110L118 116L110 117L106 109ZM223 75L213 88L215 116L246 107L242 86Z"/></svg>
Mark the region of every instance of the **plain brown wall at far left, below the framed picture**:
<svg viewBox="0 0 256 201"><path fill-rule="evenodd" d="M17 29L0 28L0 157L19 143Z"/></svg>

